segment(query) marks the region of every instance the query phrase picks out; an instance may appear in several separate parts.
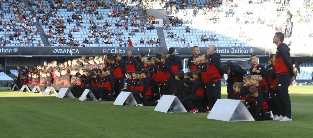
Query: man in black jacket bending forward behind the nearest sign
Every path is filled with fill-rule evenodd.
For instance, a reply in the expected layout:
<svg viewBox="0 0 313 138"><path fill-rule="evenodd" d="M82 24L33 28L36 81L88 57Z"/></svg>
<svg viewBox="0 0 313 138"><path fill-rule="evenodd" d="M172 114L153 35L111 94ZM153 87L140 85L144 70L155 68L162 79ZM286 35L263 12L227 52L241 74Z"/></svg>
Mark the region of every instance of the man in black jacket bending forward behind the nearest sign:
<svg viewBox="0 0 313 138"><path fill-rule="evenodd" d="M244 74L247 74L247 71L244 71L237 63L235 62L225 62L221 66L221 71L227 74L227 99L233 99L233 85L235 82L244 82Z"/></svg>

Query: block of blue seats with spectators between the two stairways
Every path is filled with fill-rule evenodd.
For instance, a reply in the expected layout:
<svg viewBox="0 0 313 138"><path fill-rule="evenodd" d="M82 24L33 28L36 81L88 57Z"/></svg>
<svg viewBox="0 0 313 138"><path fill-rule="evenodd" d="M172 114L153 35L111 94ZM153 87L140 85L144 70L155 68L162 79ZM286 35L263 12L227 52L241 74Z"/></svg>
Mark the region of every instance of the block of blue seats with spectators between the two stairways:
<svg viewBox="0 0 313 138"><path fill-rule="evenodd" d="M42 5L44 5L43 3L47 4L47 2L48 1L42 1ZM44 6L45 7L44 8L38 6L38 3L37 5L33 4L33 9L36 12L37 17L41 17L39 19L39 22L41 22L41 24L43 25L44 32L47 34L46 36L48 37L48 41L51 44L51 46L59 45L74 46L74 44L76 45L83 44L85 45L85 47L96 47L96 46L118 47L120 46L120 42L123 42L122 45L125 46L124 43L126 43L127 38L129 38L128 40L131 40L132 44L135 46L140 44L141 37L144 39L144 41L146 41L145 38L147 37L149 37L149 39L158 38L156 29L152 29L149 25L147 25L146 22L144 22L145 19L140 20L138 7L136 7L135 3L128 2L125 3L126 7L123 7L123 3L121 5L120 3L115 3L114 1L113 2L103 1L107 4L110 3L110 6L108 6L108 8L100 6L102 4L101 2L95 4L96 5L95 8L93 6L90 7L89 2L90 1L71 2L66 0L64 2L65 5L62 4L62 6L58 8L52 8L51 5ZM31 3L33 2L31 1ZM83 4L84 6L86 5L86 7L81 8L84 6L79 6L79 4ZM72 8L69 10L64 8L67 7L68 5L72 5L71 6ZM44 17L45 13L42 13L38 9L42 9L44 11L47 10L52 11L52 9L54 9L53 12L55 12L55 14L52 15L50 14L49 17L45 18ZM109 15L109 12L111 12L110 13L111 16ZM118 15L115 16L113 12ZM77 18L74 17L75 14ZM78 17L81 17L81 19ZM68 18L70 22L68 22ZM44 21L43 19L45 20L49 19L49 21ZM93 21L91 21L91 19ZM63 22L65 27L61 28L60 30L57 30L56 27L59 27L59 24L62 24ZM125 28L124 22L127 22L128 29ZM79 28L79 31L78 30L75 31L76 29L74 29L74 27ZM141 30L141 28L143 28L143 30ZM92 35L89 35L90 31ZM72 36L69 36L69 33L71 33ZM61 40L61 38L63 37L64 41ZM95 42L96 37L98 37L99 39L98 43ZM126 38L125 40L123 39L124 37ZM73 38L74 43L67 41L68 38ZM76 43L75 41L79 43ZM149 47L152 45L144 44L141 46Z"/></svg>

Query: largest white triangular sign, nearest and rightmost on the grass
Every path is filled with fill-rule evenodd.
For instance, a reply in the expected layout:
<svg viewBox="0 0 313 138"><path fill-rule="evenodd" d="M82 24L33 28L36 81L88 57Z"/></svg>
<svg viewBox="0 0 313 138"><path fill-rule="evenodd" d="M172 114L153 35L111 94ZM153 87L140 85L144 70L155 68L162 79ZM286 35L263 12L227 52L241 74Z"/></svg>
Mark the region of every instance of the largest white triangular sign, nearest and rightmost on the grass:
<svg viewBox="0 0 313 138"><path fill-rule="evenodd" d="M218 99L207 119L227 122L254 121L254 118L241 100L229 99Z"/></svg>

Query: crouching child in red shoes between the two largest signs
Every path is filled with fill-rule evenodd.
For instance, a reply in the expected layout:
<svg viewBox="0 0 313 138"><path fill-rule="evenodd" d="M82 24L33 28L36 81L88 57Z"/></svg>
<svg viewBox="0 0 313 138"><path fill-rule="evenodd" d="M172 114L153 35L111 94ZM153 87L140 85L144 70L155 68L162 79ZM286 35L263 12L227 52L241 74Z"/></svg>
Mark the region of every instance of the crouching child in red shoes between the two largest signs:
<svg viewBox="0 0 313 138"><path fill-rule="evenodd" d="M201 70L196 69L192 71L192 76L194 79L192 92L191 95L184 98L183 105L186 109L190 109L191 113L208 111L201 107L204 100L204 85L201 81Z"/></svg>

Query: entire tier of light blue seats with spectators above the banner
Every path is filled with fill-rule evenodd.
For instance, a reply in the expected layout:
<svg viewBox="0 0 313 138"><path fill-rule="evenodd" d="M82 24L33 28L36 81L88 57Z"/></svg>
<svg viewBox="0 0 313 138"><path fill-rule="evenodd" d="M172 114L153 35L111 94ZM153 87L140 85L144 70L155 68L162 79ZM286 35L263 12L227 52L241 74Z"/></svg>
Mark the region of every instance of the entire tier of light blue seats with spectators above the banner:
<svg viewBox="0 0 313 138"><path fill-rule="evenodd" d="M19 22L19 14L14 14L14 6L10 6L10 2L13 1L1 3L3 7L1 13L4 15L1 20L2 25L4 22L11 22L10 17L13 16L16 20L15 26L18 28L23 23ZM91 5L90 2L92 2ZM101 5L101 2L109 4L107 5L108 8ZM70 46L75 43L74 41L77 41L76 45L79 42L80 46L84 44L86 47L118 47L120 43L123 44L122 46L127 43L126 46L128 46L126 40L130 39L132 45L136 44L137 47L155 47L155 44L147 44L147 38L154 40L154 38L164 37L166 45L160 45L161 47L184 47L190 44L199 47L207 47L209 44L214 44L217 47L268 47L273 45L274 33L283 32L285 33L284 42L291 46L297 44L298 47L299 43L301 43L300 46L308 46L313 35L312 23L310 23L313 15L312 1L290 0L281 3L280 0L265 2L253 0L252 3L249 3L248 0L235 0L233 2L180 0L177 2L167 1L167 4L165 4L166 2L150 0L142 1L142 3L123 1L125 4L109 0L101 2L65 0L58 6L58 3L54 3L54 1L30 0L33 8L30 10L34 11L37 22L42 25L49 46ZM25 4L21 2L18 6L23 5ZM173 5L176 7L175 12L172 11ZM142 16L139 15L138 6L167 10L163 32L159 32L158 35L155 25L151 27L146 23L151 22L151 20L140 19ZM10 11L7 12L5 7L9 7ZM32 21L31 12L27 10L25 13L29 14ZM115 12L118 12L117 16L114 16ZM80 16L81 19L78 18ZM99 16L101 17L99 18ZM63 18L61 19L61 17ZM90 20L91 17L92 20ZM6 42L6 46L15 46L18 43L20 46L31 46L32 43L37 46L37 42L41 41L39 33L27 34L27 28L36 30L33 25L22 27L22 30L17 31L21 32L24 40L23 37L13 37L9 40L8 35L13 36L16 31L13 26L11 23L10 32L4 26L0 30L0 36L3 37L3 40L8 40L1 41L1 45ZM126 28L127 26L128 28ZM78 28L79 32L74 31L74 27L75 29ZM186 31L187 27L190 28L189 31ZM134 32L131 32L133 29ZM91 32L90 35L90 31L97 31L96 35L99 35L97 40L95 33ZM160 36L160 34L163 35ZM208 41L203 41L202 35L206 36ZM61 40L63 37L64 40ZM71 40L73 43L68 41L71 37L75 38ZM143 44L140 42L141 37ZM184 39L181 39L182 37Z"/></svg>

